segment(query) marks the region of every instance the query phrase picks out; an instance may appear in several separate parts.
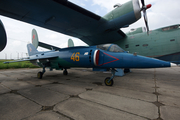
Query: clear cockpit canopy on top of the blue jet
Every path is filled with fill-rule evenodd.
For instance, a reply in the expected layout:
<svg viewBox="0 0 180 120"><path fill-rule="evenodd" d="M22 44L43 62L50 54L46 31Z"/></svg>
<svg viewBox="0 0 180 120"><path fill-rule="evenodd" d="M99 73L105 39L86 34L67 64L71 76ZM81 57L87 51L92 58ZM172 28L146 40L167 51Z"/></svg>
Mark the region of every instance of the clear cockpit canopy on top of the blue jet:
<svg viewBox="0 0 180 120"><path fill-rule="evenodd" d="M102 45L97 45L97 48L109 52L125 52L122 48L120 48L116 44L102 44Z"/></svg>

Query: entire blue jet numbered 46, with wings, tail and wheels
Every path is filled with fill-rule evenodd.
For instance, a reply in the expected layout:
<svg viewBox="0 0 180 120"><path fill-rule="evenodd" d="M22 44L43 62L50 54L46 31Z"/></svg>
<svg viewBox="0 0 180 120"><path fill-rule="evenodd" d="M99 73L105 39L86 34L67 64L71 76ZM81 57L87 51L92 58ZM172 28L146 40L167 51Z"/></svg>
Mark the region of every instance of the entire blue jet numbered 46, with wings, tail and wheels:
<svg viewBox="0 0 180 120"><path fill-rule="evenodd" d="M41 46L51 51L39 52L37 47ZM116 68L161 68L174 67L176 64L161 61L154 58L130 54L116 44L102 44L97 46L74 47L72 40L68 41L68 48L59 48L46 43L39 42L35 29L32 30L32 44L27 45L29 57L24 60L10 61L5 63L30 61L34 65L43 68L37 77L42 78L45 68L63 70L67 75L67 69L72 67L93 68L93 70L110 69L112 76L105 79L107 86L113 85Z"/></svg>

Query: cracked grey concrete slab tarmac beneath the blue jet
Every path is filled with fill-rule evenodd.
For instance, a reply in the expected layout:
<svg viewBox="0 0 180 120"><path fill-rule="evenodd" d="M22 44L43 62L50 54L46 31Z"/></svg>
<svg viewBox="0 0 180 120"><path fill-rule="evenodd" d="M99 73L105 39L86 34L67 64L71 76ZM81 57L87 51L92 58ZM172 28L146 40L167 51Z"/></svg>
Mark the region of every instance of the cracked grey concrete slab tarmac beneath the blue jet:
<svg viewBox="0 0 180 120"><path fill-rule="evenodd" d="M0 70L0 120L179 120L180 68L110 73L74 68Z"/></svg>

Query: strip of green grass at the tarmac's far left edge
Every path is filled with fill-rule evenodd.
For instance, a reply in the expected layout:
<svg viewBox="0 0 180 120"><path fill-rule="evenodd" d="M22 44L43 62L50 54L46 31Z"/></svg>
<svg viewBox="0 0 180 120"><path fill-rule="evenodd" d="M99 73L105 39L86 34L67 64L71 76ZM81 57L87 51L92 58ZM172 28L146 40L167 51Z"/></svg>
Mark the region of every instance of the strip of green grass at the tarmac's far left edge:
<svg viewBox="0 0 180 120"><path fill-rule="evenodd" d="M3 63L3 62L7 62L7 61L12 61L12 60L0 60L0 69L39 68L39 67L33 65L29 61L9 63L9 64L4 64Z"/></svg>

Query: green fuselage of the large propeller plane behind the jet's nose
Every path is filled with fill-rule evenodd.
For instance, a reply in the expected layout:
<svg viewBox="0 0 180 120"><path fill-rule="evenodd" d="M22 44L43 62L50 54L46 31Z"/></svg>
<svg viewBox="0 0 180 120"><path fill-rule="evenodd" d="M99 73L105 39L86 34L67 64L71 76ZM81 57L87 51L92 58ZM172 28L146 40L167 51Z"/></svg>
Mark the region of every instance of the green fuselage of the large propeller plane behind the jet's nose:
<svg viewBox="0 0 180 120"><path fill-rule="evenodd" d="M173 25L146 32L127 34L115 44L130 53L180 64L180 27Z"/></svg>

